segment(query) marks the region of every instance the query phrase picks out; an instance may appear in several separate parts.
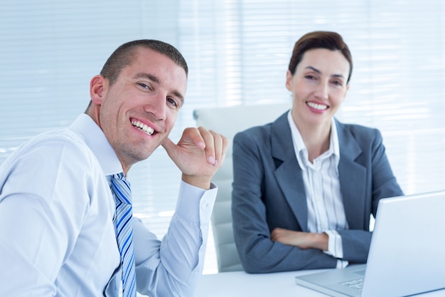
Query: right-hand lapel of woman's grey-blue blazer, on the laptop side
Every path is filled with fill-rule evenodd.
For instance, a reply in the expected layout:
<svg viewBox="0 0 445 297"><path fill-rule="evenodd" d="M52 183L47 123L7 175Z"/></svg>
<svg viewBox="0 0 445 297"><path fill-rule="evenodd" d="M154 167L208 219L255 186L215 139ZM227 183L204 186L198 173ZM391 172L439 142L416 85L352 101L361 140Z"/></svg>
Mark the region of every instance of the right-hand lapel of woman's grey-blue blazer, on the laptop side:
<svg viewBox="0 0 445 297"><path fill-rule="evenodd" d="M350 229L363 229L365 227L363 222L368 222L363 213L365 201L368 199L366 194L366 168L355 162L362 150L343 124L337 120L336 124L340 144L338 174L345 214Z"/></svg>

